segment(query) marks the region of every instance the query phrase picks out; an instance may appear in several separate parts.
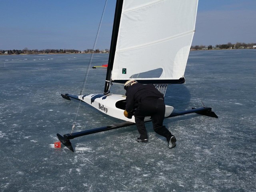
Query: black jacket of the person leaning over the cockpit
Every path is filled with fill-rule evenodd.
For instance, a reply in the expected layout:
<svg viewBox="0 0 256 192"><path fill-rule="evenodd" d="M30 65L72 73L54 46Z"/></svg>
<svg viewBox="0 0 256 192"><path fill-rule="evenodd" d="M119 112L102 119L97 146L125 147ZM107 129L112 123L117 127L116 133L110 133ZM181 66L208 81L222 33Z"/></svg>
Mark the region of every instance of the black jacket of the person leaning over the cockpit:
<svg viewBox="0 0 256 192"><path fill-rule="evenodd" d="M134 107L139 103L143 102L143 99L146 97L150 98L163 98L164 95L160 93L153 84L141 84L135 83L129 86L126 90L126 106L125 109L127 112L131 112Z"/></svg>

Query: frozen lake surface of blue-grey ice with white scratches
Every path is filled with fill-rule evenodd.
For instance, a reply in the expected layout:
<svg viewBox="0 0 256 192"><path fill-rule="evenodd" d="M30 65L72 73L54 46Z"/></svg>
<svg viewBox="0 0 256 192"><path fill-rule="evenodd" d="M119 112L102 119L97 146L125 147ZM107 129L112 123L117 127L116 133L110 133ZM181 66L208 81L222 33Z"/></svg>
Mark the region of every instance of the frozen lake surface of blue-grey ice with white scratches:
<svg viewBox="0 0 256 192"><path fill-rule="evenodd" d="M165 102L180 111L212 107L164 120L177 138L167 142L146 123L71 140L75 152L54 148L72 129L88 54L0 56L0 191L254 192L256 191L256 50L192 51L186 84L168 86ZM108 62L95 54L92 65ZM102 93L106 69L89 72L84 94ZM122 86L111 92L124 94ZM121 122L82 105L75 131Z"/></svg>

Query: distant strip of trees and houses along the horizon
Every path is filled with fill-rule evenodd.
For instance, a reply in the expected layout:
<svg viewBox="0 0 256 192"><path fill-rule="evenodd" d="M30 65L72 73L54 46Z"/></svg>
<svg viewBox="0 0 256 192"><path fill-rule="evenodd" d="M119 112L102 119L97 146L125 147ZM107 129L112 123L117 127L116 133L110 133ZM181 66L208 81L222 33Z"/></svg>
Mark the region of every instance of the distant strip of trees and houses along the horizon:
<svg viewBox="0 0 256 192"><path fill-rule="evenodd" d="M240 48L253 48L256 43L241 43L237 42L236 44L232 44L228 42L227 44L221 44L221 45L216 45L213 47L212 45L209 45L206 47L205 45L196 45L196 46L191 46L190 50L210 50L210 49L240 49ZM33 49L29 50L28 48L24 48L23 50L0 50L0 54L61 54L61 53L109 53L108 49L104 50L92 50L92 49L87 49L84 51L80 50L74 50L74 49L43 49L43 50L38 50L38 49Z"/></svg>

